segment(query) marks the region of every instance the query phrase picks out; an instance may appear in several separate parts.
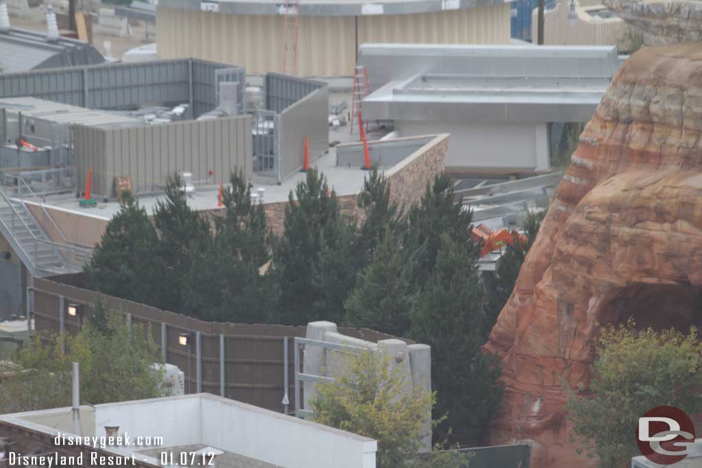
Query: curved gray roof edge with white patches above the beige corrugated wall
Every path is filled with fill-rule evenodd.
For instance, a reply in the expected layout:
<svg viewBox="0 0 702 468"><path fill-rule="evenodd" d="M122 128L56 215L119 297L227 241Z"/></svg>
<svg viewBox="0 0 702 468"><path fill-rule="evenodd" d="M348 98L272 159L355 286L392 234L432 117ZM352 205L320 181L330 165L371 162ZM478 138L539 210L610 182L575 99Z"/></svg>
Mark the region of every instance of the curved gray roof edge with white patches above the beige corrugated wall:
<svg viewBox="0 0 702 468"><path fill-rule="evenodd" d="M480 6L503 5L512 0L305 0L300 2L304 16L403 15L437 11L468 10ZM166 6L165 2L161 4ZM188 11L218 11L239 15L280 15L279 0L168 0L168 8Z"/></svg>

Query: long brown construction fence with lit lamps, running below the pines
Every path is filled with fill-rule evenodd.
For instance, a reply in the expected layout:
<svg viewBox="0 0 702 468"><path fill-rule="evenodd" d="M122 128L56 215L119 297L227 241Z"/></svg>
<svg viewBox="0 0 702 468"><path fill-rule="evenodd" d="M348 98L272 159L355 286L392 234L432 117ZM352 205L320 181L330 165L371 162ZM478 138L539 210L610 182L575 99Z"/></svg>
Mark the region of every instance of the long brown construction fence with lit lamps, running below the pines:
<svg viewBox="0 0 702 468"><path fill-rule="evenodd" d="M167 362L178 366L185 373L185 392L197 391L197 361L193 347L178 345L178 335L184 332L201 332L202 389L220 394L220 333L225 335L225 396L261 408L282 411L284 395L284 337L304 337L305 326L248 325L244 323L204 322L167 312L155 307L101 295L81 288L83 275L54 276L52 279L34 279L34 326L37 330L58 333L60 328L60 296L65 304L82 305L84 316L92 313L95 300L100 297L109 309L121 314L131 314L133 324L149 328L154 342L161 349L161 323L166 323ZM65 314L68 333L77 333L77 320ZM339 333L369 341L389 338L390 335L373 330L339 328ZM293 387L293 340L289 346L289 398ZM291 406L292 410L293 406Z"/></svg>

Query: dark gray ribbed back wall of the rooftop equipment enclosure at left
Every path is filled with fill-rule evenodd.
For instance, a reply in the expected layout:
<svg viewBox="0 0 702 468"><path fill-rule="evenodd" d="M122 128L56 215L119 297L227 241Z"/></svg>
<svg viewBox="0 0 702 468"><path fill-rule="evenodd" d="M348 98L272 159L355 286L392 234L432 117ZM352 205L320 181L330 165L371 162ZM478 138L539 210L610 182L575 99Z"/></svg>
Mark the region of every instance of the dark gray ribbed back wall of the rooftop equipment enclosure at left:
<svg viewBox="0 0 702 468"><path fill-rule="evenodd" d="M34 96L91 109L190 103L197 117L217 107L215 70L223 68L232 66L178 59L0 74L0 99Z"/></svg>

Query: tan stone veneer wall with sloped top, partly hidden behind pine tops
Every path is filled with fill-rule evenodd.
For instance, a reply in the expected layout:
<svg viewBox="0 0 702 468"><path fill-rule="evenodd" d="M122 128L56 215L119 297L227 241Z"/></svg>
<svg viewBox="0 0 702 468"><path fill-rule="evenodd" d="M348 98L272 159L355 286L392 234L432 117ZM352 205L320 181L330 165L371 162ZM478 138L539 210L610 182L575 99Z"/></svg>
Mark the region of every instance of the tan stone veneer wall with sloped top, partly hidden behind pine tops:
<svg viewBox="0 0 702 468"><path fill-rule="evenodd" d="M401 207L417 203L423 196L429 182L446 168L446 152L449 149L449 134L437 135L426 145L407 156L400 163L385 171L390 180L390 197ZM362 187L358 187L359 191ZM339 195L342 215L360 216L356 199L358 193ZM285 221L287 201L264 205L268 225L274 234L281 234Z"/></svg>

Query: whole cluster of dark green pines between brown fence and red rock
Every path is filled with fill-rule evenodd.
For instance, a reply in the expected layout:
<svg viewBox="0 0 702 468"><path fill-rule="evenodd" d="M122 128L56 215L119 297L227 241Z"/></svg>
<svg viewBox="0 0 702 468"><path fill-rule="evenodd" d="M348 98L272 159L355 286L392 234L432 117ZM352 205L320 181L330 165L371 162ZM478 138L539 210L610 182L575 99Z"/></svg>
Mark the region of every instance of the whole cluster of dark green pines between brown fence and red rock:
<svg viewBox="0 0 702 468"><path fill-rule="evenodd" d="M447 416L437 440L481 442L502 392L499 366L480 350L495 317L472 213L456 203L449 178L437 176L403 212L375 168L357 199L362 215L352 218L324 175L309 171L289 195L279 236L241 174L213 221L187 205L181 185L168 182L153 222L122 197L86 267L90 286L207 321L329 320L426 343L435 418Z"/></svg>

